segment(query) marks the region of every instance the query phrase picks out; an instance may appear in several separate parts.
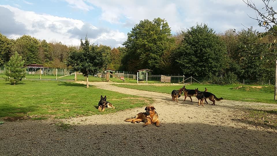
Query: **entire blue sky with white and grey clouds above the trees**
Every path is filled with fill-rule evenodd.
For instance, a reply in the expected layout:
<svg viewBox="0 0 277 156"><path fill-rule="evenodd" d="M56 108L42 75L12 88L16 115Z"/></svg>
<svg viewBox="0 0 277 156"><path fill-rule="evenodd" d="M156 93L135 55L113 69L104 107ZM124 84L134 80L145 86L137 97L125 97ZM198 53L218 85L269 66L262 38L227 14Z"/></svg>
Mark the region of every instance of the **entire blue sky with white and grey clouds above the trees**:
<svg viewBox="0 0 277 156"><path fill-rule="evenodd" d="M263 8L260 0L252 1ZM87 33L91 43L118 47L136 23L157 17L168 21L172 34L196 23L216 33L244 26L263 31L247 14L256 16L242 0L1 0L0 33L67 45L79 45Z"/></svg>

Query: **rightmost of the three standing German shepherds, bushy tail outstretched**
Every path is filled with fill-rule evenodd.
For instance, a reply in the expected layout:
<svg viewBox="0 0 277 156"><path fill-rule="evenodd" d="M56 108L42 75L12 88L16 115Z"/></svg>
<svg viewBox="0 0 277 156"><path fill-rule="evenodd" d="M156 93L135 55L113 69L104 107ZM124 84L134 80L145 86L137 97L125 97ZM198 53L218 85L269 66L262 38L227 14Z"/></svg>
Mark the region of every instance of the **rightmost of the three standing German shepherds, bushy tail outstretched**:
<svg viewBox="0 0 277 156"><path fill-rule="evenodd" d="M216 103L215 103L216 101L223 100L222 97L218 99L214 94L212 94L210 92L200 92L198 90L198 88L195 89L195 94L196 94L196 98L199 100L198 105L200 105L200 103L202 102L202 106L203 106L204 99L205 99L206 103L208 104L208 102L206 100L207 98L209 98L209 100L213 102L212 105L216 105Z"/></svg>

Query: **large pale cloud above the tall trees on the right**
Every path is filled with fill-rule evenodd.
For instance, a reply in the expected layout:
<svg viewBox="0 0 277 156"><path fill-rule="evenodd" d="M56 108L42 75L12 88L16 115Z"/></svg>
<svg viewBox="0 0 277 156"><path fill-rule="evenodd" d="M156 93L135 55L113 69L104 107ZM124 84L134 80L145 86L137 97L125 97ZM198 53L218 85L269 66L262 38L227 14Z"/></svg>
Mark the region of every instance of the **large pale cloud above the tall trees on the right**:
<svg viewBox="0 0 277 156"><path fill-rule="evenodd" d="M130 25L133 27L143 19L153 20L160 17L168 21L172 31L189 28L196 23L206 23L217 32L225 31L226 28L244 28L241 24L249 27L253 25L255 29L259 29L256 21L247 16L247 14L255 16L254 10L247 7L242 0L86 0L86 2L101 8L101 20L122 24L124 27ZM260 9L263 7L260 1L255 1L255 4L261 6ZM220 23L224 23L224 27Z"/></svg>

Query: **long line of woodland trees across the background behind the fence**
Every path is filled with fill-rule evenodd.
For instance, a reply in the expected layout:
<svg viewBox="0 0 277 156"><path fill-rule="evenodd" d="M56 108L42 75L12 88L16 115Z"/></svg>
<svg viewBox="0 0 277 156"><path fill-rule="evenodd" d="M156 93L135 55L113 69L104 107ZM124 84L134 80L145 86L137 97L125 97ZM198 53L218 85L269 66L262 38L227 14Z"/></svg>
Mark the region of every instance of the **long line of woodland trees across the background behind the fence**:
<svg viewBox="0 0 277 156"><path fill-rule="evenodd" d="M128 33L127 40L122 43L124 47L90 44L87 52L103 56L99 70L136 71L148 68L153 70L153 74L196 76L220 84L235 83L237 79L274 80L274 58L249 54L269 52L267 45L262 43L270 43L277 36L267 34L261 39L259 34L252 28L216 33L207 24L196 24L171 34L165 19L145 19ZM73 68L68 63L72 60L69 55L83 51L82 44L82 39L80 46L67 46L29 35L14 40L0 34L0 66L17 52L24 65Z"/></svg>

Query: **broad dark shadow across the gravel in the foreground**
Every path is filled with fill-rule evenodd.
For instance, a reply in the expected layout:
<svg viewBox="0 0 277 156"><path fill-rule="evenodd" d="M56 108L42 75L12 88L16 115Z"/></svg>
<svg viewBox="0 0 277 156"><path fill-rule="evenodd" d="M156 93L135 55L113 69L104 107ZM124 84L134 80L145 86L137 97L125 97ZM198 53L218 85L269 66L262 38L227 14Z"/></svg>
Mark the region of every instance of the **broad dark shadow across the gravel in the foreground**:
<svg viewBox="0 0 277 156"><path fill-rule="evenodd" d="M123 119L114 124L104 120L109 119L79 125L59 120L3 124L0 155L276 155L275 132L203 123L143 127ZM66 129L58 130L57 124Z"/></svg>

